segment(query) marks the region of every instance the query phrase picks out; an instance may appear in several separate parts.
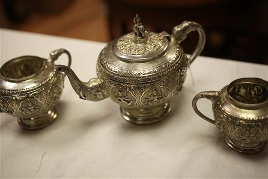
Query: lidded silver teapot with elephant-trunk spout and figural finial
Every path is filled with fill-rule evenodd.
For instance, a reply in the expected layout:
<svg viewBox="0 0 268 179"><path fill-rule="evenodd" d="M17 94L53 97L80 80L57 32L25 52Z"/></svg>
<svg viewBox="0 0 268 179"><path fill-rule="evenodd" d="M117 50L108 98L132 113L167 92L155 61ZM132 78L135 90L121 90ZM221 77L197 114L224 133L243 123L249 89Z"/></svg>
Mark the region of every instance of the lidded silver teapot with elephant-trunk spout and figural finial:
<svg viewBox="0 0 268 179"><path fill-rule="evenodd" d="M124 119L152 124L165 119L170 112L169 101L182 90L187 67L204 47L205 33L198 23L191 21L174 27L172 35L145 31L138 16L134 23L134 32L102 49L97 60L97 78L83 82L70 68L57 68L67 74L81 99L98 101L110 97L121 106ZM191 31L197 31L200 37L189 60L179 43Z"/></svg>

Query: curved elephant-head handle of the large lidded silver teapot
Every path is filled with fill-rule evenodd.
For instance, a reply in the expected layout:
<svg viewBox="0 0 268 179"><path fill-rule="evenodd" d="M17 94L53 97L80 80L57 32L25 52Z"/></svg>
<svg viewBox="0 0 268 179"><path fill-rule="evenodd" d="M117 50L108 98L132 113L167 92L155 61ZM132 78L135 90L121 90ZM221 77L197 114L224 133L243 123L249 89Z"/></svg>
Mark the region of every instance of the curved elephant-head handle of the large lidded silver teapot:
<svg viewBox="0 0 268 179"><path fill-rule="evenodd" d="M195 50L189 58L190 64L193 62L193 60L195 60L195 58L201 53L204 48L206 42L206 34L203 27L197 22L183 21L180 25L173 27L171 35L171 39L173 41L180 43L181 41L185 40L187 35L192 31L198 32L199 40L197 46L195 47Z"/></svg>

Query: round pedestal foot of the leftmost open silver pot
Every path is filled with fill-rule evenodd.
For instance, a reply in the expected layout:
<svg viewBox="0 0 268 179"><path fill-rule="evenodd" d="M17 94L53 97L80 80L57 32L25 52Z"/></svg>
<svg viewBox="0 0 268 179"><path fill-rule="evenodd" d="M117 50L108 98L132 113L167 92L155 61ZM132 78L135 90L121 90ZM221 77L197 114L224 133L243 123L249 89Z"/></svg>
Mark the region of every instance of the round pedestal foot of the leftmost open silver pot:
<svg viewBox="0 0 268 179"><path fill-rule="evenodd" d="M41 129L49 124L51 124L54 120L57 119L57 109L56 107L52 107L48 113L44 116L38 118L18 118L19 126L23 129L35 130Z"/></svg>

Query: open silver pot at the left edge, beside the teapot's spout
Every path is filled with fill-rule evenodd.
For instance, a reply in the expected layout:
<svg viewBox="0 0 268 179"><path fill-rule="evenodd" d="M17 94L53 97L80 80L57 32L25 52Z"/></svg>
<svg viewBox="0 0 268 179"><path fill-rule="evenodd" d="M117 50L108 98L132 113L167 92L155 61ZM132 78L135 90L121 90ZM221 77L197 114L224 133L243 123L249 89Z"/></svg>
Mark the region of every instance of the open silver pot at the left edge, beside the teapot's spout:
<svg viewBox="0 0 268 179"><path fill-rule="evenodd" d="M22 56L4 63L0 68L0 111L18 118L20 127L39 129L57 118L58 102L64 74L57 71L54 61L65 49L50 53L49 59Z"/></svg>

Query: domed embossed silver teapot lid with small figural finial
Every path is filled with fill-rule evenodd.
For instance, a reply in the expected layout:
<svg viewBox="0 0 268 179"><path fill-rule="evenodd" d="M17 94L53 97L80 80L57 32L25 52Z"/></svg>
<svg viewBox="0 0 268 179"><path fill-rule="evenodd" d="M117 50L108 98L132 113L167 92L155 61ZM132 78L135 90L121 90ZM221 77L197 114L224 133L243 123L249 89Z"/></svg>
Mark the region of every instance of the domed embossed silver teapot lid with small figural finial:
<svg viewBox="0 0 268 179"><path fill-rule="evenodd" d="M168 40L162 34L147 32L136 15L131 33L117 39L113 51L119 60L126 62L145 62L162 55L168 47Z"/></svg>

